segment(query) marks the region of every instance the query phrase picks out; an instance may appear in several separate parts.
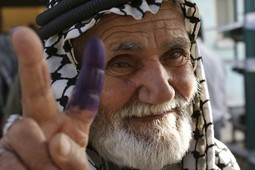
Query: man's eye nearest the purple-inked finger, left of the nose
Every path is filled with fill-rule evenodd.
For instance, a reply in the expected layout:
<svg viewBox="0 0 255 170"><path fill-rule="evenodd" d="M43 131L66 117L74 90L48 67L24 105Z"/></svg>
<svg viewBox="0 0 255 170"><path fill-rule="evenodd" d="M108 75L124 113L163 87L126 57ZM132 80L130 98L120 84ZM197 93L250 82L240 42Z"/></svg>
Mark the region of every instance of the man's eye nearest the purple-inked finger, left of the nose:
<svg viewBox="0 0 255 170"><path fill-rule="evenodd" d="M130 75L137 69L137 61L130 55L115 56L106 65L106 73L115 77Z"/></svg>

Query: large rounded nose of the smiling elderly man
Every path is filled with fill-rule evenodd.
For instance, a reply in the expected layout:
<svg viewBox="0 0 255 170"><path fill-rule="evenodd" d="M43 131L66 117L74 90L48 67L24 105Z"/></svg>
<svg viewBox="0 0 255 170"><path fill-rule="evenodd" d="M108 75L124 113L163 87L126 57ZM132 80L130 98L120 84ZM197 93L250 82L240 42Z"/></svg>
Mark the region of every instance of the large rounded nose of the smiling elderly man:
<svg viewBox="0 0 255 170"><path fill-rule="evenodd" d="M160 63L147 65L140 71L136 85L138 100L147 104L162 104L173 100L175 90L170 75Z"/></svg>

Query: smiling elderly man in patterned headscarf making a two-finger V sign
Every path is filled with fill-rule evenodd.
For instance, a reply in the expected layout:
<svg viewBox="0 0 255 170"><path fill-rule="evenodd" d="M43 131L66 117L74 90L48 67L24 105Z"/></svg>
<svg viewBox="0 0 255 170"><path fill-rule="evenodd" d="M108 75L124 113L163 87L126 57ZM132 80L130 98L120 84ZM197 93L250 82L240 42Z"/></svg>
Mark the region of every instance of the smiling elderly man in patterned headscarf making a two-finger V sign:
<svg viewBox="0 0 255 170"><path fill-rule="evenodd" d="M14 31L23 118L5 126L0 169L239 169L213 137L196 5L93 2L82 20L67 0L39 17L53 92L40 40Z"/></svg>

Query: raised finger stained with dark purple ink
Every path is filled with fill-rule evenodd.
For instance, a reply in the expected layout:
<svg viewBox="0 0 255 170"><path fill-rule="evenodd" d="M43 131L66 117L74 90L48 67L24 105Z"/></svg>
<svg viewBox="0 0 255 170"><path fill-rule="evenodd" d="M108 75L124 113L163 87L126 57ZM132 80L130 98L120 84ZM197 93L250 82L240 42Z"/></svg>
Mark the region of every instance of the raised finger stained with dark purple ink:
<svg viewBox="0 0 255 170"><path fill-rule="evenodd" d="M91 38L85 48L83 63L67 109L78 107L96 111L103 88L105 49L97 38Z"/></svg>

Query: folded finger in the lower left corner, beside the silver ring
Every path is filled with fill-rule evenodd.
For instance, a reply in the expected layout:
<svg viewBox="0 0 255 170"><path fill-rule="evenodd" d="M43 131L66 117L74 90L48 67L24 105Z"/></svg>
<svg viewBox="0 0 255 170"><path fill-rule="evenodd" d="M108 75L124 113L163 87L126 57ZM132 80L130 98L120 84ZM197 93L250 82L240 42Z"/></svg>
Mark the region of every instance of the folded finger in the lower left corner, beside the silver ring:
<svg viewBox="0 0 255 170"><path fill-rule="evenodd" d="M51 160L48 143L32 119L17 120L2 139L2 143L14 152L28 169L57 170Z"/></svg>

